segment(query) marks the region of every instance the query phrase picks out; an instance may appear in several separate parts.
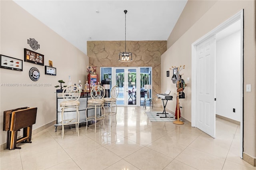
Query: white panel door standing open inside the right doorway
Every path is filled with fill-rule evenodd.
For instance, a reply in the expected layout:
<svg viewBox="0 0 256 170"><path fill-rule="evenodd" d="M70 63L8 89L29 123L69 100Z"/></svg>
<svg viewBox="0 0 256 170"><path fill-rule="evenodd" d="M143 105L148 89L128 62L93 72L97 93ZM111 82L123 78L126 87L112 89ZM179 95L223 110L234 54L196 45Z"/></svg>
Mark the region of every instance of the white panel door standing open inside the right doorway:
<svg viewBox="0 0 256 170"><path fill-rule="evenodd" d="M215 35L196 46L196 127L215 138Z"/></svg>

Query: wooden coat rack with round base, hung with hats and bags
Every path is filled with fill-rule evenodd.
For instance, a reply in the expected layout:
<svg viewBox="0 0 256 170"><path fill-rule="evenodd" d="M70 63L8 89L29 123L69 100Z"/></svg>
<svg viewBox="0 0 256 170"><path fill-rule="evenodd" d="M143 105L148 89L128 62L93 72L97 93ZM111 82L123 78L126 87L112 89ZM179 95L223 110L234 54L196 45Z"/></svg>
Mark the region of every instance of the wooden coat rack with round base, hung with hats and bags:
<svg viewBox="0 0 256 170"><path fill-rule="evenodd" d="M183 66L181 66L180 65L180 67L173 67L172 66L172 70L176 70L177 71L177 75L176 75L176 78L177 78L177 105L176 105L176 109L177 109L177 117L178 117L178 119L177 119L177 121L174 121L173 123L174 124L177 124L177 125L183 125L184 124L184 122L183 121L180 121L180 113L179 113L179 111L180 111L180 105L179 105L179 93L180 92L182 92L184 89L181 87L180 88L180 81L181 81L181 78L180 78L180 71L182 70L182 69L184 69L185 68L185 65L183 65Z"/></svg>

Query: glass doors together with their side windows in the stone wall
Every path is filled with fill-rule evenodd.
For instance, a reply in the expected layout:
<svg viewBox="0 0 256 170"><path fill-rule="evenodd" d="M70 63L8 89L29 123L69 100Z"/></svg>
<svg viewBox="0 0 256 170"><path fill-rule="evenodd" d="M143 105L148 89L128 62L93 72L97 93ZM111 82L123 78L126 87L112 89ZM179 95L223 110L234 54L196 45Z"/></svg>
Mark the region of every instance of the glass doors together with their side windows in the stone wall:
<svg viewBox="0 0 256 170"><path fill-rule="evenodd" d="M100 81L110 84L110 90L119 87L116 105L144 106L145 97L152 97L151 72L152 67L101 67Z"/></svg>

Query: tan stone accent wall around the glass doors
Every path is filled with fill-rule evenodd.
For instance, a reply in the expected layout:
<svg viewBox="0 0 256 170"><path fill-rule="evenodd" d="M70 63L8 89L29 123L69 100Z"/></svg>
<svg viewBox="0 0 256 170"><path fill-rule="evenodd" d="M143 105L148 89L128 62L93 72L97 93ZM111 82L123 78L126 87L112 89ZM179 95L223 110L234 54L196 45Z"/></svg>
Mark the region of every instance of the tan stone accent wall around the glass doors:
<svg viewBox="0 0 256 170"><path fill-rule="evenodd" d="M90 66L100 67L152 67L152 97L161 93L161 55L167 41L126 41L126 52L132 52L131 62L120 62L119 53L125 49L124 41L88 41L87 55ZM97 69L96 73L100 73ZM153 101L161 104L160 100Z"/></svg>

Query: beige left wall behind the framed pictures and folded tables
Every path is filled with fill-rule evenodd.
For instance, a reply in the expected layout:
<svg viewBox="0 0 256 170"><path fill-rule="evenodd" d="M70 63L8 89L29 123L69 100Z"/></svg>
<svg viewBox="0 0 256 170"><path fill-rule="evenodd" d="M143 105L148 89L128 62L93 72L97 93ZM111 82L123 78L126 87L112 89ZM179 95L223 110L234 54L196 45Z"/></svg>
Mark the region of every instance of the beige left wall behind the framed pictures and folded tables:
<svg viewBox="0 0 256 170"><path fill-rule="evenodd" d="M42 24L28 12L23 10L13 1L0 1L1 37L0 53L17 59L24 60L24 48L32 50L27 44L29 38L34 38L40 44L40 49L35 50L44 54L44 64L52 60L56 67L57 75L45 75L44 66L23 62L23 71L0 69L0 127L2 130L3 112L18 107L38 107L36 124L33 130L56 120L56 88L60 79L68 81L71 76L72 83L79 80L84 84L86 79L86 65L88 57ZM34 50L32 50L34 51ZM32 81L28 72L31 67L40 71L40 79ZM50 86L42 87L6 87L6 83L48 83ZM67 83L65 83L67 84ZM0 133L0 144L6 142L6 132Z"/></svg>

